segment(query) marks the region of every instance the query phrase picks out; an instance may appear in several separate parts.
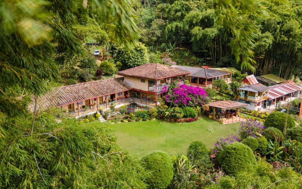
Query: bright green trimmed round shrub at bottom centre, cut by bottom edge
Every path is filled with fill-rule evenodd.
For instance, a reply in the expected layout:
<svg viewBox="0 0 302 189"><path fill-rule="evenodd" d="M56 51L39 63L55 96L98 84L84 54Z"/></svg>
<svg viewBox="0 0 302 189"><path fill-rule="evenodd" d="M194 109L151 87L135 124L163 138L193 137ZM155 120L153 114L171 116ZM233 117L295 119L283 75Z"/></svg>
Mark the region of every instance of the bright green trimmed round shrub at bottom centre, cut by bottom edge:
<svg viewBox="0 0 302 189"><path fill-rule="evenodd" d="M153 152L141 159L141 164L147 170L153 171L146 178L150 189L164 189L172 181L173 164L170 157L163 152Z"/></svg>

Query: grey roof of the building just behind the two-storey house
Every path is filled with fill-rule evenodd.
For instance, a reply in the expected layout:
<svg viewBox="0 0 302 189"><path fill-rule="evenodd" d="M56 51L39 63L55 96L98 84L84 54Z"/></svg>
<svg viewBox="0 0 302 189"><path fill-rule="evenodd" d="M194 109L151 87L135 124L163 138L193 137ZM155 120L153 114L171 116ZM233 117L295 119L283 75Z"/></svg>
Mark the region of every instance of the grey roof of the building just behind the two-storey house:
<svg viewBox="0 0 302 189"><path fill-rule="evenodd" d="M229 72L223 72L215 69L201 68L201 67L193 67L193 66L173 66L175 68L180 68L191 72L190 76L192 77L200 77L200 78L213 78L219 77L222 75L230 75Z"/></svg>

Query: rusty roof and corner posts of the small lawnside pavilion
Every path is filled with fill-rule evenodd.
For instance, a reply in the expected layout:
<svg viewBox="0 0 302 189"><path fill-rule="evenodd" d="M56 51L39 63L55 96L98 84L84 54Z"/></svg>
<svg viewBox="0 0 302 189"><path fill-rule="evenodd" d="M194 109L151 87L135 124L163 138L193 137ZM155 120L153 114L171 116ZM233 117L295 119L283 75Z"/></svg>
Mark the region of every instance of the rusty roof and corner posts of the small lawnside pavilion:
<svg viewBox="0 0 302 189"><path fill-rule="evenodd" d="M213 119L216 119L216 113L218 110L222 111L222 110L235 109L236 112L234 115L237 115L238 108L249 106L249 104L236 102L236 101L216 101L216 102L210 102L207 105L213 109Z"/></svg>

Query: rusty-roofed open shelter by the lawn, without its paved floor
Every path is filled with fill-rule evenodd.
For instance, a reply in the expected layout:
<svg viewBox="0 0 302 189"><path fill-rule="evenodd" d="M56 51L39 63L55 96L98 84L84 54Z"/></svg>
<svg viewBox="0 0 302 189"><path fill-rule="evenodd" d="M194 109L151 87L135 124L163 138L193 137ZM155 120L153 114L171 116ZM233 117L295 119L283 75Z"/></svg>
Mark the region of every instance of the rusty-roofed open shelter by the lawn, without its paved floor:
<svg viewBox="0 0 302 189"><path fill-rule="evenodd" d="M215 102L210 102L207 105L213 109L213 119L215 120L220 120L222 117L231 118L233 116L237 116L238 108L249 106L249 104L236 102L236 101L215 101ZM220 114L221 116L219 116L219 119L217 119L218 118L217 117L218 115L216 114L217 111L231 110L231 109L235 109L236 110L235 113L227 113L228 111L225 111L226 114Z"/></svg>

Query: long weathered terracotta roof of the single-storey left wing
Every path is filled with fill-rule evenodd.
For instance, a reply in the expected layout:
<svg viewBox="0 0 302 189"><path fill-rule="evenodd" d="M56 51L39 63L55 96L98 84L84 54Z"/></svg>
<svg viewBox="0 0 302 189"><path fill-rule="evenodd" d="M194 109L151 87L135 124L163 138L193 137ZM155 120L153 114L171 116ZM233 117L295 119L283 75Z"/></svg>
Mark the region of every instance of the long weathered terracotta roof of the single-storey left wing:
<svg viewBox="0 0 302 189"><path fill-rule="evenodd" d="M63 106L131 89L130 86L124 83L124 79L121 77L61 86L40 97L37 109ZM30 111L34 111L34 103L29 105L29 109Z"/></svg>

